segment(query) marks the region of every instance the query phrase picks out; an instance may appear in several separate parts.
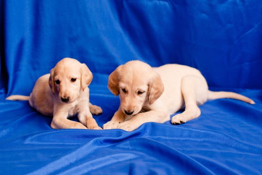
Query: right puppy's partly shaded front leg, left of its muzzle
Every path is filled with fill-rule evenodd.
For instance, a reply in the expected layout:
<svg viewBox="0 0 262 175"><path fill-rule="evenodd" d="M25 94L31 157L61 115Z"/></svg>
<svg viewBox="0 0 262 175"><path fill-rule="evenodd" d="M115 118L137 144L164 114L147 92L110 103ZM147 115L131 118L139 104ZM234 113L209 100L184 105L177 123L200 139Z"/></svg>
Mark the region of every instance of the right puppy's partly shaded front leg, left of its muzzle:
<svg viewBox="0 0 262 175"><path fill-rule="evenodd" d="M103 129L115 129L120 122L124 121L125 114L119 109L115 112L114 116L110 121L103 125Z"/></svg>

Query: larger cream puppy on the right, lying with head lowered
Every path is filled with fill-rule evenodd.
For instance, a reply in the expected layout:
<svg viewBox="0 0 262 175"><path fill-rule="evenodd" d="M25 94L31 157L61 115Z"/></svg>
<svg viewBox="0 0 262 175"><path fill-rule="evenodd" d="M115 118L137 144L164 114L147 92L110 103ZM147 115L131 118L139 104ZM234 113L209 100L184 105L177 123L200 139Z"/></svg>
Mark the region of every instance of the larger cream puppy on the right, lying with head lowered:
<svg viewBox="0 0 262 175"><path fill-rule="evenodd" d="M171 122L185 123L201 114L198 105L208 99L235 98L255 104L235 92L210 91L199 70L179 64L152 68L142 61L129 61L109 75L108 88L119 94L120 106L104 129L131 131L145 122L163 123L184 107L185 111L173 116Z"/></svg>

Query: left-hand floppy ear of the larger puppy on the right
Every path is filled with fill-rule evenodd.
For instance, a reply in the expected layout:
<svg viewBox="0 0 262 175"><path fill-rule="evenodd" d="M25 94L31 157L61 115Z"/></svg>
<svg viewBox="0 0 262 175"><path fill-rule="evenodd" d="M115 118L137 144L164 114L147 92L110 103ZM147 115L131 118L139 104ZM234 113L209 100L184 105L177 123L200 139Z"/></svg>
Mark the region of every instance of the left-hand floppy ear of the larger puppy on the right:
<svg viewBox="0 0 262 175"><path fill-rule="evenodd" d="M122 65L119 65L108 77L108 88L114 95L119 95L119 73Z"/></svg>

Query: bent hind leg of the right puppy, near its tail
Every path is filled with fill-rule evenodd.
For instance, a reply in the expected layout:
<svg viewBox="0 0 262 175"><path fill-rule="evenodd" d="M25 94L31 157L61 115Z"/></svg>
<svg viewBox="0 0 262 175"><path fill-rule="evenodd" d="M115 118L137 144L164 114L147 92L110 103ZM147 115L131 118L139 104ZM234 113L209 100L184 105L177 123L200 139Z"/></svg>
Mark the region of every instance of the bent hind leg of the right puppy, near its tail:
<svg viewBox="0 0 262 175"><path fill-rule="evenodd" d="M207 100L208 85L202 77L187 75L182 78L181 91L185 100L185 111L172 117L173 124L182 124L201 114L197 103Z"/></svg>

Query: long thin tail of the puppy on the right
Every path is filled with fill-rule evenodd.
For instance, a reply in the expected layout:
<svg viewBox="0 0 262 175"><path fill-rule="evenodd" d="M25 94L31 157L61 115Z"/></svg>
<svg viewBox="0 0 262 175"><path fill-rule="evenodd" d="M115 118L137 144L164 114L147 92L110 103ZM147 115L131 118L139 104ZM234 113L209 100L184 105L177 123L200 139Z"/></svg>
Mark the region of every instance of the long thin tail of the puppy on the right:
<svg viewBox="0 0 262 175"><path fill-rule="evenodd" d="M253 101L252 99L235 92L211 91L211 90L208 91L208 99L218 99L218 98L233 98L233 99L245 101L250 104L255 104L255 101Z"/></svg>

